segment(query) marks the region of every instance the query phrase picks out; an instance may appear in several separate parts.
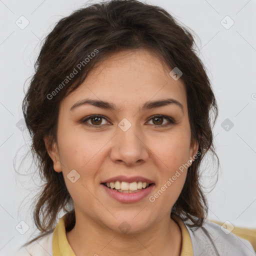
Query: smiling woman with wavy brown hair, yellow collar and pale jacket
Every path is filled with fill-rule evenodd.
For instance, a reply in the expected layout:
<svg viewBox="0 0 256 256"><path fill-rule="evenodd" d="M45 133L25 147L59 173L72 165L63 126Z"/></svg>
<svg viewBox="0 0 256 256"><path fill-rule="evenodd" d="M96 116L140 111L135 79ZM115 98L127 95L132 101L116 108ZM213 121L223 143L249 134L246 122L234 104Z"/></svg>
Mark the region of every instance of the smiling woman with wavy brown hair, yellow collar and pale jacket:
<svg viewBox="0 0 256 256"><path fill-rule="evenodd" d="M211 111L215 121L193 37L162 8L114 0L62 18L23 101L45 185L41 235L19 253L254 255L205 219Z"/></svg>

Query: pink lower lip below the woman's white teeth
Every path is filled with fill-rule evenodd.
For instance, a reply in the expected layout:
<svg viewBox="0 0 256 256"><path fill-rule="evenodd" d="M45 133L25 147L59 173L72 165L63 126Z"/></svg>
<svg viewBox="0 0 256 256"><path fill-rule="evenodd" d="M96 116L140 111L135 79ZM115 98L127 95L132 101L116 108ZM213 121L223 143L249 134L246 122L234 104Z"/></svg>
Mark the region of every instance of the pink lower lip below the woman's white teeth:
<svg viewBox="0 0 256 256"><path fill-rule="evenodd" d="M108 193L108 195L110 195L111 197L113 197L117 201L124 202L124 203L137 202L139 200L142 200L143 198L145 198L151 192L151 190L154 187L154 184L151 184L150 186L148 186L147 188L142 189L139 192L122 193L122 192L118 192L115 189L108 188L103 184L100 184L100 185L103 187L103 189L105 189L105 191Z"/></svg>

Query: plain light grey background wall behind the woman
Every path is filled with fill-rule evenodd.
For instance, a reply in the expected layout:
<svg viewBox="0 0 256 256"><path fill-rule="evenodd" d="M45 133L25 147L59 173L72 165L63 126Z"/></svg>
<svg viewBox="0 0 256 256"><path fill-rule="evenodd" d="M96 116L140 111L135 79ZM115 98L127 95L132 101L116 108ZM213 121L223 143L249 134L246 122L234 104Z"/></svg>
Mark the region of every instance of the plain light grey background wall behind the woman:
<svg viewBox="0 0 256 256"><path fill-rule="evenodd" d="M29 148L27 129L21 131L16 126L22 119L23 85L33 74L40 40L56 21L84 3L88 1L0 0L0 255L10 255L10 251L35 231L30 204L39 180L36 175L17 175L13 166L16 156L15 168L19 172L27 174L33 170L31 157L21 162ZM209 187L206 189L208 218L256 227L256 1L151 0L147 3L165 8L200 38L200 42L197 40L200 57L208 69L219 106L214 126L219 177L210 191L214 166L209 164L209 158L203 179ZM25 24L21 15L29 21L24 29L15 23L17 20L20 26ZM231 20L224 18L226 15L234 21L230 28ZM225 127L221 126L226 118L234 124L228 130L225 122L222 124ZM24 234L20 232L25 231L26 225L20 221L29 226Z"/></svg>

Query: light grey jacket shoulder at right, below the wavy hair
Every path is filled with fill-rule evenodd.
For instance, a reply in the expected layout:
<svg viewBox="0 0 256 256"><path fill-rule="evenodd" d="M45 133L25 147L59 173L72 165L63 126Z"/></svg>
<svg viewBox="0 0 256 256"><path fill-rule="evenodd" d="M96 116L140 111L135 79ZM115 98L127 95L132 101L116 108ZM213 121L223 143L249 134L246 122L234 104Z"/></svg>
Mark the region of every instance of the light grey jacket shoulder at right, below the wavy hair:
<svg viewBox="0 0 256 256"><path fill-rule="evenodd" d="M227 229L207 219L201 227L189 227L191 220L184 221L189 232L194 256L219 255L219 256L255 256L254 249L249 241L238 237Z"/></svg>

